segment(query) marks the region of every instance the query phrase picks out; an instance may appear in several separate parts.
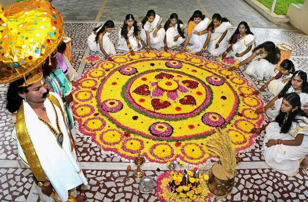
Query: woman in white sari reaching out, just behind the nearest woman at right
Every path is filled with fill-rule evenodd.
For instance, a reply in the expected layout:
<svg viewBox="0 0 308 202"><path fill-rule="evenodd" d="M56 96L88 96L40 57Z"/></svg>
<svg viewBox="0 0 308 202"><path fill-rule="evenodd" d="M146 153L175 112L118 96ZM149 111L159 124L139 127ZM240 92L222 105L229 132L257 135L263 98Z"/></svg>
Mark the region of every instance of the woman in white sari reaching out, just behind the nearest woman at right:
<svg viewBox="0 0 308 202"><path fill-rule="evenodd" d="M308 112L308 83L307 74L304 71L296 71L291 77L290 81L284 86L282 91L274 97L263 108L257 109L256 113L260 114L265 112L267 121L275 120L280 110L282 97L287 93L297 93L301 100L301 109ZM274 109L272 107L274 106Z"/></svg>

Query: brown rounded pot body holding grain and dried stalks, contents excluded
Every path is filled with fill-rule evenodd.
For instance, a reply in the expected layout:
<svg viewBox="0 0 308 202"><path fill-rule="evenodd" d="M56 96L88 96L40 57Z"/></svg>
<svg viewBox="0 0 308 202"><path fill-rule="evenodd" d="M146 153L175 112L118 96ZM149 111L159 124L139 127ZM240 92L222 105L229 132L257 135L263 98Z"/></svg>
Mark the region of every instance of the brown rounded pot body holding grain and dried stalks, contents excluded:
<svg viewBox="0 0 308 202"><path fill-rule="evenodd" d="M232 190L232 187L234 185L235 175L234 177L228 180L222 180L219 177L215 176L215 174L213 173L212 169L214 165L209 170L209 180L207 181L207 186L209 190L217 196L227 195Z"/></svg>

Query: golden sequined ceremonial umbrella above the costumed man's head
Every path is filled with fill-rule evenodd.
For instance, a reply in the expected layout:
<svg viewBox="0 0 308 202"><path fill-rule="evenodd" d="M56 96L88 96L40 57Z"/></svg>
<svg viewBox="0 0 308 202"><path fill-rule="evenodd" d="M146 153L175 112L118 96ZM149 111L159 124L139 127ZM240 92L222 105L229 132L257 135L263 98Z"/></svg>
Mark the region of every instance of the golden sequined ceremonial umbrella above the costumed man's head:
<svg viewBox="0 0 308 202"><path fill-rule="evenodd" d="M58 10L45 0L21 1L5 8L0 5L0 8L2 84L37 72L62 42L63 19ZM25 79L24 85L31 82L29 78Z"/></svg>

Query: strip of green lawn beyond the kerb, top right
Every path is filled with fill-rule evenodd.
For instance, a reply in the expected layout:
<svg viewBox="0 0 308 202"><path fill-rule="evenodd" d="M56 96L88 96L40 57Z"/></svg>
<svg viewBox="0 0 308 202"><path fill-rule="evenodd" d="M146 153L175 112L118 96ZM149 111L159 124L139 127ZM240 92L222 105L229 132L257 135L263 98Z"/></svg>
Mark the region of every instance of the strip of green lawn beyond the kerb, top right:
<svg viewBox="0 0 308 202"><path fill-rule="evenodd" d="M266 8L271 10L273 0L258 0ZM301 3L303 4L305 0L277 0L274 13L277 15L287 15L287 11L290 3Z"/></svg>

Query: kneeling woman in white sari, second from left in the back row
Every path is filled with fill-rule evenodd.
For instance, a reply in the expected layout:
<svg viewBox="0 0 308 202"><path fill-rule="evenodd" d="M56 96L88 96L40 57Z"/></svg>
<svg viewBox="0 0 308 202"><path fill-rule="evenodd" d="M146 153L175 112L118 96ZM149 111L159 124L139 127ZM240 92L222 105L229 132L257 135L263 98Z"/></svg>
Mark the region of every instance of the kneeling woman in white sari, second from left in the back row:
<svg viewBox="0 0 308 202"><path fill-rule="evenodd" d="M138 24L133 15L128 14L125 17L122 29L119 31L118 49L130 51L131 55L135 55L134 51L142 48L138 38Z"/></svg>

